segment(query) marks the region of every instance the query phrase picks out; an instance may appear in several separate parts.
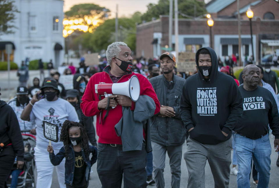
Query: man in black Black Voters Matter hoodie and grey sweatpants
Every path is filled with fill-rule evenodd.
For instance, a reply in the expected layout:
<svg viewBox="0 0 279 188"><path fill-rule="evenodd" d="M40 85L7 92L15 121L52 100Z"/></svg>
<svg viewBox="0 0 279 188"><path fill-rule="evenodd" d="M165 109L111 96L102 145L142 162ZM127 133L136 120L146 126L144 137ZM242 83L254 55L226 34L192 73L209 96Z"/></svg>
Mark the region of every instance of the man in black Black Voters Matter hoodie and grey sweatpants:
<svg viewBox="0 0 279 188"><path fill-rule="evenodd" d="M228 187L231 134L242 116L243 99L235 80L218 71L212 48L200 48L196 64L198 73L186 79L180 100L180 116L190 135L184 153L188 187L205 187L206 160L215 187Z"/></svg>

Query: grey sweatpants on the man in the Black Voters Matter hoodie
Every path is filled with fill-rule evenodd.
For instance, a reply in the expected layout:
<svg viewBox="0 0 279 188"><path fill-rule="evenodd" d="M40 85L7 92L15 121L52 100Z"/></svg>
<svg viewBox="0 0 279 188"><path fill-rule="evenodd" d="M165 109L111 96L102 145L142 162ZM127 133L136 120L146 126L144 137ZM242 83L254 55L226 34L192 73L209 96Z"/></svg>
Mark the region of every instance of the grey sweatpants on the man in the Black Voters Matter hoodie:
<svg viewBox="0 0 279 188"><path fill-rule="evenodd" d="M232 139L219 144L201 144L187 139L184 159L188 169L188 188L205 187L205 163L208 160L215 188L228 188L230 180Z"/></svg>

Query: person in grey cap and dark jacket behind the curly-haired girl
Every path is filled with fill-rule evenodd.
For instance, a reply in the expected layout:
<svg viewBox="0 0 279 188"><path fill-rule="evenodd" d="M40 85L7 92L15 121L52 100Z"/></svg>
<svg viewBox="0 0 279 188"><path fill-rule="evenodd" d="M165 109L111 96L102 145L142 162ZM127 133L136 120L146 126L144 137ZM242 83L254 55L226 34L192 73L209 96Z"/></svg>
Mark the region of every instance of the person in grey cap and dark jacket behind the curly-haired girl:
<svg viewBox="0 0 279 188"><path fill-rule="evenodd" d="M71 89L67 91L66 100L71 103L76 109L76 113L78 114L79 123L82 124L88 136L90 143L97 147L97 140L95 138L95 128L93 126L93 116L87 117L83 114L81 110L81 102L79 98L79 92L76 89Z"/></svg>

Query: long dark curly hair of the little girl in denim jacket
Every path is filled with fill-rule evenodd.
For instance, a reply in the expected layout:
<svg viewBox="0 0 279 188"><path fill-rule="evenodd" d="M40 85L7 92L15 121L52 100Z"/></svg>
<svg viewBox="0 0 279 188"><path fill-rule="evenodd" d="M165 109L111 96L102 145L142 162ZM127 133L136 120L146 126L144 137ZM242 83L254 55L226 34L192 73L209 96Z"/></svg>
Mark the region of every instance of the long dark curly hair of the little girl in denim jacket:
<svg viewBox="0 0 279 188"><path fill-rule="evenodd" d="M71 144L71 141L69 139L69 129L71 127L79 127L79 129L81 130L81 147L83 148L85 157L89 157L89 140L87 137L87 133L85 130L85 127L78 123L78 122L73 122L73 121L69 121L66 120L63 125L62 125L62 129L61 129L61 133L60 133L60 141L63 142L64 146L65 146L65 156L68 155L69 153L69 144Z"/></svg>

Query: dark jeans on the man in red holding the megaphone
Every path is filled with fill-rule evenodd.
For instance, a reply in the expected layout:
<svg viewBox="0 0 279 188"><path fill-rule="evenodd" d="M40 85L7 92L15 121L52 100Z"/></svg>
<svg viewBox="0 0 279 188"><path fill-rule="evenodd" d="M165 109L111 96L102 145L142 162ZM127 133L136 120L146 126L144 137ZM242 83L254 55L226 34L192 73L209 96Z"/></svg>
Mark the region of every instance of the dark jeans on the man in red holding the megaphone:
<svg viewBox="0 0 279 188"><path fill-rule="evenodd" d="M146 150L122 151L122 147L98 143L97 173L103 188L146 188Z"/></svg>

